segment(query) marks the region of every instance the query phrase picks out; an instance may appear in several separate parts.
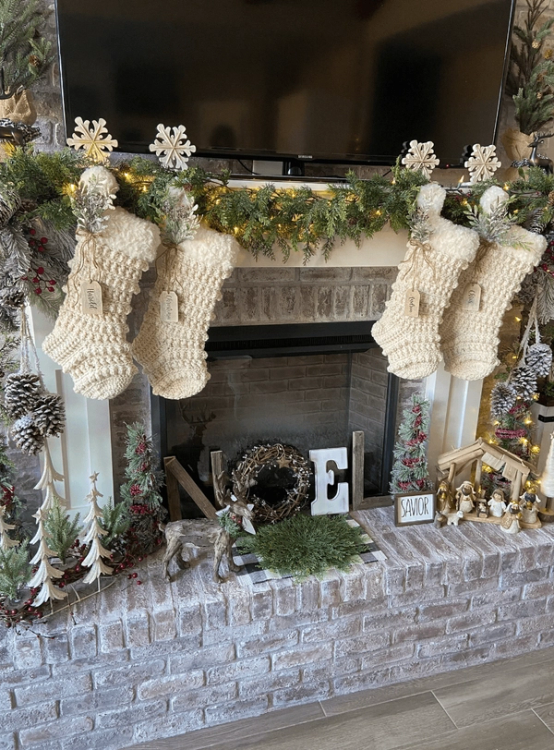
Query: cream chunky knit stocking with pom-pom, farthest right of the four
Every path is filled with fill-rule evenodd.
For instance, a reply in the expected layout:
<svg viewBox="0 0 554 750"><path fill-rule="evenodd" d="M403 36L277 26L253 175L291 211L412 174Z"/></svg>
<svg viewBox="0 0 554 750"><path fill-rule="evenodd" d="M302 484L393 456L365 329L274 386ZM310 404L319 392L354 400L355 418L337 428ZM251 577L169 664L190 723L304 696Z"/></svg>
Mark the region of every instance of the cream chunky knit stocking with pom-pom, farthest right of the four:
<svg viewBox="0 0 554 750"><path fill-rule="evenodd" d="M507 200L502 188L491 187L483 193L481 207L490 214ZM440 328L448 372L463 380L481 380L499 364L502 318L545 247L544 237L518 226L508 230L504 244L481 241L475 262L460 276Z"/></svg>

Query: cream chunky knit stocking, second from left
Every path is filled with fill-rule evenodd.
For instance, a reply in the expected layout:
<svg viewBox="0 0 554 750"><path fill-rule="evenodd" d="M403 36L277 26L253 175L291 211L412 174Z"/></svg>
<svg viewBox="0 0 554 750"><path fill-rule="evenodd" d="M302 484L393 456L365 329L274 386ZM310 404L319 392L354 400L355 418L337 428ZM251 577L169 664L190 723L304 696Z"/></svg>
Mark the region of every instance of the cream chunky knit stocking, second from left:
<svg viewBox="0 0 554 750"><path fill-rule="evenodd" d="M201 227L194 239L170 246L158 259L152 299L133 342L133 353L153 393L169 399L188 398L208 382L204 344L237 250L232 237ZM176 294L172 322L161 316L164 292Z"/></svg>

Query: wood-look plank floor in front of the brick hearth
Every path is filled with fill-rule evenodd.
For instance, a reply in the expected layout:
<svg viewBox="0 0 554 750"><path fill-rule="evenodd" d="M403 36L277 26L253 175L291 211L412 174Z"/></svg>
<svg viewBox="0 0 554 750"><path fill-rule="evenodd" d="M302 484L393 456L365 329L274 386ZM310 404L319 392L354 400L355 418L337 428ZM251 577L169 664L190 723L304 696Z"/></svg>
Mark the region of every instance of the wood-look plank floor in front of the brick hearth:
<svg viewBox="0 0 554 750"><path fill-rule="evenodd" d="M127 750L554 750L554 648Z"/></svg>

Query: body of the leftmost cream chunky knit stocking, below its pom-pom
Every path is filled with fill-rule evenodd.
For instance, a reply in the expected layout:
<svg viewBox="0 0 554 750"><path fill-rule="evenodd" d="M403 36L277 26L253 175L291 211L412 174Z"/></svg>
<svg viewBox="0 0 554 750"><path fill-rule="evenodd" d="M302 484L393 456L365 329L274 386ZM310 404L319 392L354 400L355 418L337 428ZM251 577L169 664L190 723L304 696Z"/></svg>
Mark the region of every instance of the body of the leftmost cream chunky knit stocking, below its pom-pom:
<svg viewBox="0 0 554 750"><path fill-rule="evenodd" d="M139 291L143 272L156 257L158 227L116 208L107 228L96 235L92 275L102 288L102 316L82 310L81 283L89 281L91 264L80 262L84 237L75 249L67 296L43 349L74 381L76 393L87 398L114 398L137 372L127 341L126 318ZM90 257L90 246L87 250Z"/></svg>

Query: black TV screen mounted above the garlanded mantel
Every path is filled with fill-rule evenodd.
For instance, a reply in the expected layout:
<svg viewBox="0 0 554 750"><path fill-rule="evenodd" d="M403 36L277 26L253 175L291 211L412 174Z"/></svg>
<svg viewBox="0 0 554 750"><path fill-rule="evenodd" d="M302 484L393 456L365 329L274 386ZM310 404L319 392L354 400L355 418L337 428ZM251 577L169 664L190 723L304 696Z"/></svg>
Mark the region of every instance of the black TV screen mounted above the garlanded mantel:
<svg viewBox="0 0 554 750"><path fill-rule="evenodd" d="M513 0L58 0L66 124L122 151L441 164L496 133Z"/></svg>

